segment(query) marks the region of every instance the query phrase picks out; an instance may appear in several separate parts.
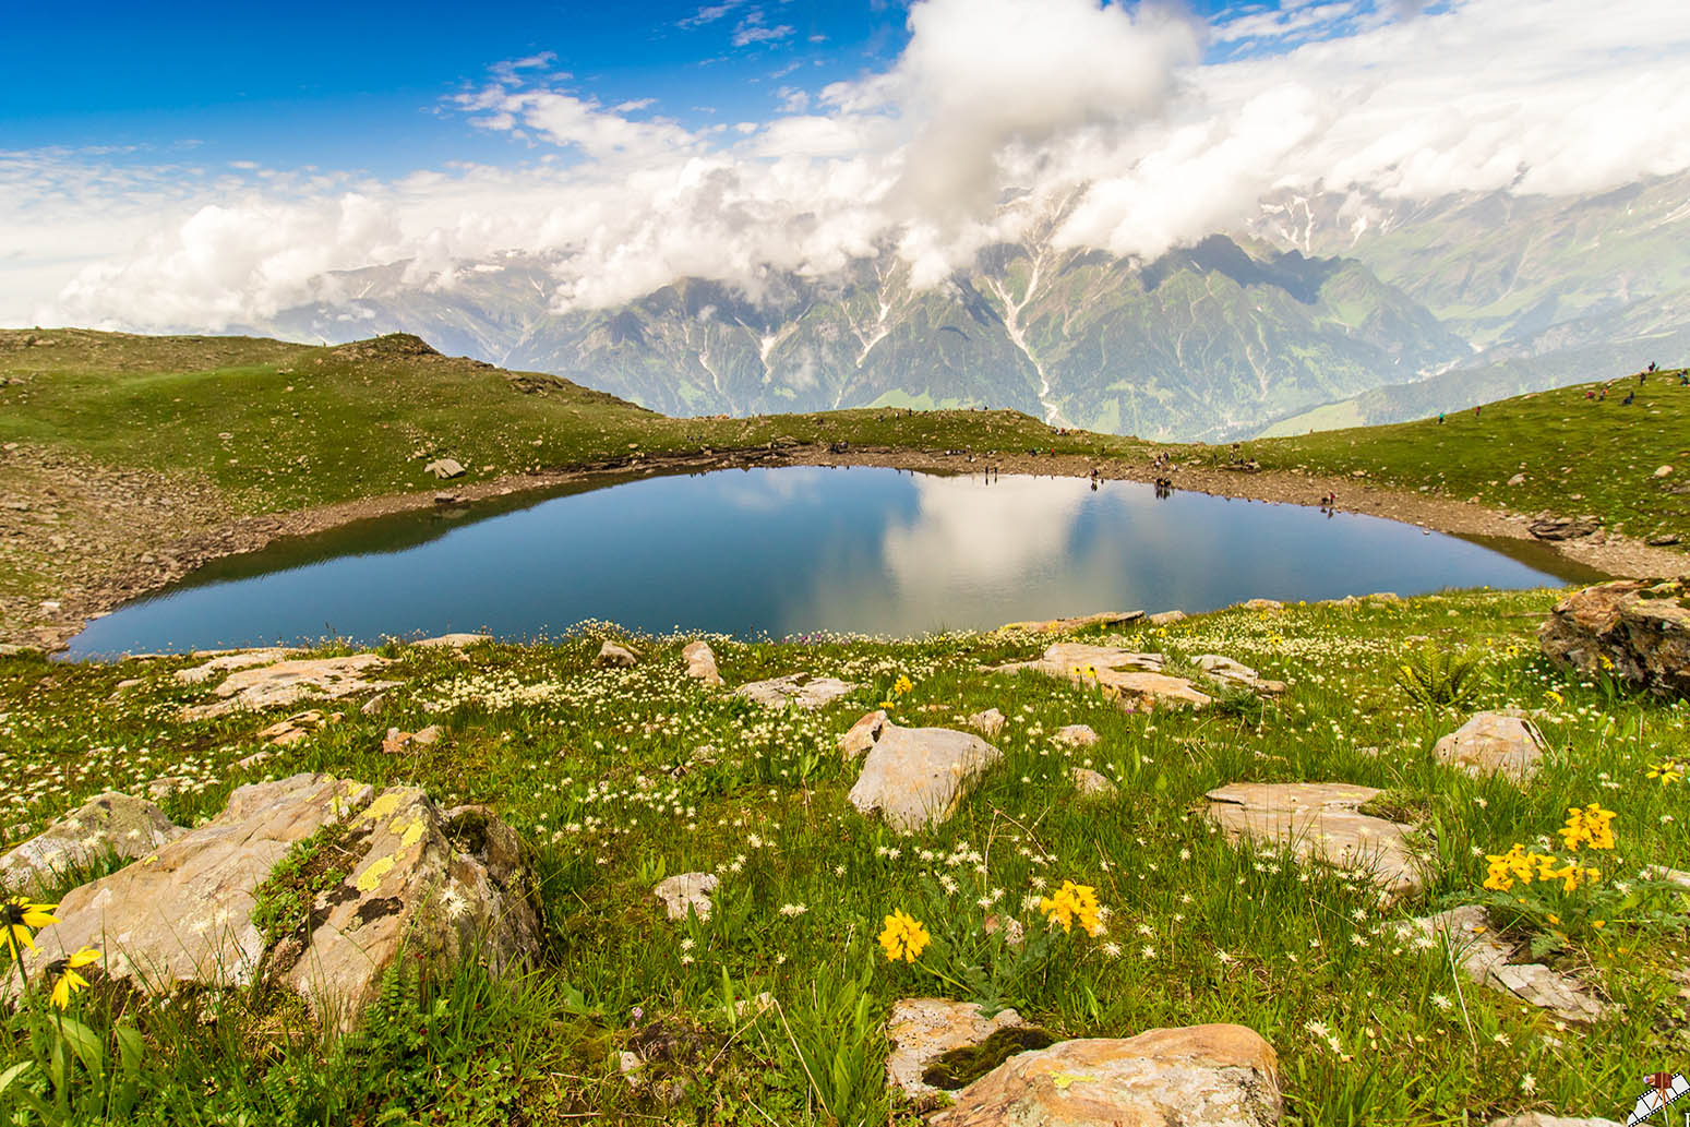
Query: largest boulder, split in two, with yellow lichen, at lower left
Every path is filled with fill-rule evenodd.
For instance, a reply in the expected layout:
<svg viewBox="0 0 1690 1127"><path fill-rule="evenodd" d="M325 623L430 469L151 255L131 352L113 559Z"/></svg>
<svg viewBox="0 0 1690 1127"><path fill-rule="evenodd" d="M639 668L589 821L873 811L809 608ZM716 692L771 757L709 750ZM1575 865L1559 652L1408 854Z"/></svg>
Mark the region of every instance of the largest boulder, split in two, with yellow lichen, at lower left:
<svg viewBox="0 0 1690 1127"><path fill-rule="evenodd" d="M277 933L272 917L267 929L265 884L324 826L338 826L324 884L297 921ZM493 972L532 960L536 902L521 840L487 809L443 814L414 787L372 798L360 782L299 774L238 787L210 823L69 892L29 968L35 978L95 946L108 977L149 992L245 987L262 972L346 1029L401 958L433 968L480 958Z"/></svg>

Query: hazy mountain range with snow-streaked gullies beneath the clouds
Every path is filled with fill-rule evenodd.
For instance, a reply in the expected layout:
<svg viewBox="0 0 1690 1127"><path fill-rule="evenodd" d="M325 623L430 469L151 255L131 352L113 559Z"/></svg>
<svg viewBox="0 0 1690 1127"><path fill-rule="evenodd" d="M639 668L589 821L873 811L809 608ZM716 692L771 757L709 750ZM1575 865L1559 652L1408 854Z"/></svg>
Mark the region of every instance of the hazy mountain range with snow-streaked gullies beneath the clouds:
<svg viewBox="0 0 1690 1127"><path fill-rule="evenodd" d="M666 414L1014 407L1156 439L1391 422L1690 351L1690 176L1580 198L1281 193L1154 260L1061 247L1070 201L911 286L891 247L821 277L686 277L558 311L559 260L323 275L243 331L409 331ZM1012 206L1019 201L1006 201Z"/></svg>

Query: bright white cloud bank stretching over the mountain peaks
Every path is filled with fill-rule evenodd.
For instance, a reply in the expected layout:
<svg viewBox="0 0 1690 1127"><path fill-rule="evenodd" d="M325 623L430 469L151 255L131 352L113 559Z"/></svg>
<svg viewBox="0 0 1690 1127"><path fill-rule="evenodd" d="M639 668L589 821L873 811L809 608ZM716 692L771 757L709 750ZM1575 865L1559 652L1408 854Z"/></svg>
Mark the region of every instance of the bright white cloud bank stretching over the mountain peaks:
<svg viewBox="0 0 1690 1127"><path fill-rule="evenodd" d="M784 27L754 12L686 24ZM771 269L886 248L930 286L1034 223L1154 257L1283 188L1568 194L1690 169L1690 24L1656 0L1311 0L1215 27L1098 0L918 0L887 69L781 91L781 113L733 130L605 105L554 63L500 64L448 103L524 142L509 167L379 181L0 154L0 321L262 324L335 296L336 270L407 262L451 286L505 250L553 264L561 308L688 274L755 296Z"/></svg>

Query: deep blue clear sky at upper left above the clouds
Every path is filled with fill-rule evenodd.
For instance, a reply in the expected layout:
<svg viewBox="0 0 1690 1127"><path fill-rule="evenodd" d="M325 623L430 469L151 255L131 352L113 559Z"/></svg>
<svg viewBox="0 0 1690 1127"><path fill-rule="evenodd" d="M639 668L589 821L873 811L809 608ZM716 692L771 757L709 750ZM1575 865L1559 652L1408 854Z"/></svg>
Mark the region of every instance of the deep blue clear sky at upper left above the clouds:
<svg viewBox="0 0 1690 1127"><path fill-rule="evenodd" d="M1191 5L1208 19L1237 7ZM0 149L134 147L101 159L162 164L199 142L204 167L373 176L510 164L527 155L521 140L444 105L495 63L553 52L571 93L732 125L774 115L781 86L813 93L884 69L908 41L906 12L902 0L15 5L0 35ZM747 27L791 32L735 46Z"/></svg>

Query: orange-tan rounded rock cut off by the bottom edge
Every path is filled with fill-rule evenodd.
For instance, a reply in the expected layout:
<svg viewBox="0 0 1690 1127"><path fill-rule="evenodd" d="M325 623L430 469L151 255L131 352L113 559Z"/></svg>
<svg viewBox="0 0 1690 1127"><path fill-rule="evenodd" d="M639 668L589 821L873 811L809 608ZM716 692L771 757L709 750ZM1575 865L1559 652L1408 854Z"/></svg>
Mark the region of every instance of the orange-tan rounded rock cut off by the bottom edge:
<svg viewBox="0 0 1690 1127"><path fill-rule="evenodd" d="M1021 1053L963 1088L935 1127L1273 1127L1279 1061L1244 1026L1151 1029Z"/></svg>

